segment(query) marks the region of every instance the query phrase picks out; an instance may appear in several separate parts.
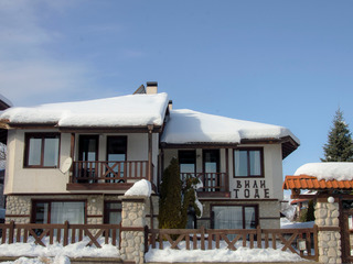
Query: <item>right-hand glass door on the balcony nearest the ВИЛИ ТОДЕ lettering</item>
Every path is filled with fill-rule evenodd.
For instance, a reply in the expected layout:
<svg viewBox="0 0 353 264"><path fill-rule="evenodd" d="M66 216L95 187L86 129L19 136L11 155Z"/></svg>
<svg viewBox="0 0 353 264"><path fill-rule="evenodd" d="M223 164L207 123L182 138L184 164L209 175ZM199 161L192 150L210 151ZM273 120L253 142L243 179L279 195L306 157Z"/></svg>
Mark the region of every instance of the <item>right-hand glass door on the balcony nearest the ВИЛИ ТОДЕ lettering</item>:
<svg viewBox="0 0 353 264"><path fill-rule="evenodd" d="M220 150L203 151L203 186L205 191L220 191Z"/></svg>

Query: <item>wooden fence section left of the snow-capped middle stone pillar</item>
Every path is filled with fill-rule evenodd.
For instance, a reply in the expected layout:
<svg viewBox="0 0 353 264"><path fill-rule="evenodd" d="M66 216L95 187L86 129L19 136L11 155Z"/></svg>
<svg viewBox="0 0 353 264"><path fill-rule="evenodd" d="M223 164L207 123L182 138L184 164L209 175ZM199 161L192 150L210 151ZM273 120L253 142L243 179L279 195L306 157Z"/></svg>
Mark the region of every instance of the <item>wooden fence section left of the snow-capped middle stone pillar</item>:
<svg viewBox="0 0 353 264"><path fill-rule="evenodd" d="M34 239L34 243L46 246L54 242L64 246L75 242L83 241L88 238L86 246L95 245L101 248L100 243L119 245L120 224L71 224L67 221L63 224L58 223L1 223L0 224L0 242L1 244L12 244L15 242L28 243L30 238ZM45 241L44 241L45 240Z"/></svg>

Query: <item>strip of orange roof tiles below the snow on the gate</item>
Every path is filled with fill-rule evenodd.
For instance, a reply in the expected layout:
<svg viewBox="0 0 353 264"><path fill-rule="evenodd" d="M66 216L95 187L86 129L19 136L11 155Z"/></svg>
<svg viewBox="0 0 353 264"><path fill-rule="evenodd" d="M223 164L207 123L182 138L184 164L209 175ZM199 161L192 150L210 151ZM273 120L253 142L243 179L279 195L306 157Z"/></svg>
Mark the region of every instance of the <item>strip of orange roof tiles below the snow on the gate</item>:
<svg viewBox="0 0 353 264"><path fill-rule="evenodd" d="M353 180L325 180L314 176L286 176L284 189L353 189Z"/></svg>

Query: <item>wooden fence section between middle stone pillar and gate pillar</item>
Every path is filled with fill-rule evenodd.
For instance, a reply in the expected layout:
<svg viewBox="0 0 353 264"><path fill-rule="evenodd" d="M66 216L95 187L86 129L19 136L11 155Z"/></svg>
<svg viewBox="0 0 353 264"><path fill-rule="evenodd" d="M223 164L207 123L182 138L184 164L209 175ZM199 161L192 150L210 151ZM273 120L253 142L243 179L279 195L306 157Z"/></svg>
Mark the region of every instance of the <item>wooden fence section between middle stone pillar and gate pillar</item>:
<svg viewBox="0 0 353 264"><path fill-rule="evenodd" d="M152 249L212 250L239 246L249 249L280 249L291 251L308 260L318 258L318 228L312 229L150 229L149 245ZM298 239L304 240L306 251L297 249Z"/></svg>

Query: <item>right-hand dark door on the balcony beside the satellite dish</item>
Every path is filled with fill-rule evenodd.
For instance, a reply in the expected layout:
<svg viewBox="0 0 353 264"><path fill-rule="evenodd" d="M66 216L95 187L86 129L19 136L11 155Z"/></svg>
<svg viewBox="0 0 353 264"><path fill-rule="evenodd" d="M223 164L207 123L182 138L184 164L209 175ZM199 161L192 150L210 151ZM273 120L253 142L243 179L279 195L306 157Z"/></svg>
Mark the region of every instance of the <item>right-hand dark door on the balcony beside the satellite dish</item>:
<svg viewBox="0 0 353 264"><path fill-rule="evenodd" d="M108 183L125 183L125 162L127 160L127 136L108 136L107 138L107 161L113 170L107 175L115 178Z"/></svg>

